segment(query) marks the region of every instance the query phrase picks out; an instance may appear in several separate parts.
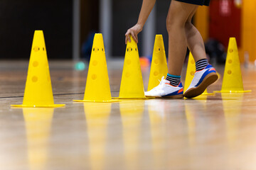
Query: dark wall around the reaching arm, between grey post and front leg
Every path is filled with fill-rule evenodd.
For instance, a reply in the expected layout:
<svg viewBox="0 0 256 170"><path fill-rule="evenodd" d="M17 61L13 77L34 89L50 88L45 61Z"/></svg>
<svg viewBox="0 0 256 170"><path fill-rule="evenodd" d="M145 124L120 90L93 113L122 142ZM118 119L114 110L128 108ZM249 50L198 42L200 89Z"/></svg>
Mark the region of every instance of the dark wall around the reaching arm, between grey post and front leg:
<svg viewBox="0 0 256 170"><path fill-rule="evenodd" d="M156 34L162 34L164 37L166 55L168 52L166 16L169 10L170 3L170 0L156 1ZM127 29L131 28L132 26L134 26L134 24L137 23L141 7L142 0L113 0L112 55L114 57L124 56L126 47L126 45L124 44L124 34L126 33ZM139 33L138 36L139 55L142 55L142 33Z"/></svg>

